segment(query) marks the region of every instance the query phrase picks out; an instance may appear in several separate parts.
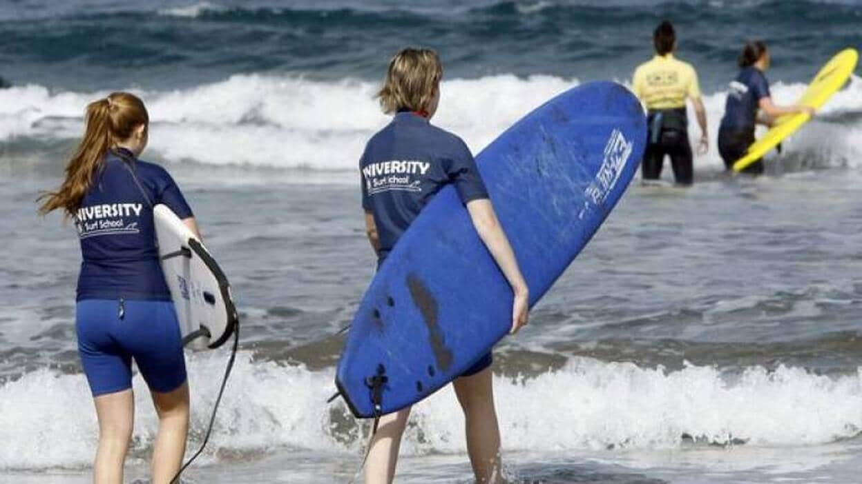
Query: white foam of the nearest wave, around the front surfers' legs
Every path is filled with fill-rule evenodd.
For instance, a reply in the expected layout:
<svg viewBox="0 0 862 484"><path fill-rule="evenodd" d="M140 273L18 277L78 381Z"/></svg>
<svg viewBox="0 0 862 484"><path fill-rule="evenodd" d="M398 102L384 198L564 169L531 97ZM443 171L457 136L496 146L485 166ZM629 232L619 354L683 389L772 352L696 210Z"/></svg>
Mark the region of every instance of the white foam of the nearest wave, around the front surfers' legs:
<svg viewBox="0 0 862 484"><path fill-rule="evenodd" d="M189 362L197 441L223 358L214 352ZM155 416L139 377L135 391L134 445L140 450L153 441ZM335 430L352 418L343 405L325 403L333 391L331 369L255 363L240 353L205 460L211 462L216 450L358 453L359 430ZM661 449L678 446L683 434L719 444L741 439L753 447L802 446L862 430L862 369L828 377L755 367L728 380L708 367L666 372L575 359L523 382L497 377L495 392L507 450ZM463 420L450 389L415 406L411 421L405 453L465 451ZM83 375L41 369L0 387L0 468L85 466L96 437Z"/></svg>

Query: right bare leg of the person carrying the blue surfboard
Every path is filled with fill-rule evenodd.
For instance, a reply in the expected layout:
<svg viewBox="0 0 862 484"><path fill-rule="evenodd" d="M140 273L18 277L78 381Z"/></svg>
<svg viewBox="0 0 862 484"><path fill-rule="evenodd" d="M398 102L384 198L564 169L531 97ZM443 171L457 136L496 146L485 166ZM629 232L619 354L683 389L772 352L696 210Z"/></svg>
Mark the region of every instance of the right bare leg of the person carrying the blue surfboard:
<svg viewBox="0 0 862 484"><path fill-rule="evenodd" d="M490 367L476 375L461 376L453 382L464 410L467 453L473 474L480 484L503 482L500 459L500 428L494 410L494 388Z"/></svg>

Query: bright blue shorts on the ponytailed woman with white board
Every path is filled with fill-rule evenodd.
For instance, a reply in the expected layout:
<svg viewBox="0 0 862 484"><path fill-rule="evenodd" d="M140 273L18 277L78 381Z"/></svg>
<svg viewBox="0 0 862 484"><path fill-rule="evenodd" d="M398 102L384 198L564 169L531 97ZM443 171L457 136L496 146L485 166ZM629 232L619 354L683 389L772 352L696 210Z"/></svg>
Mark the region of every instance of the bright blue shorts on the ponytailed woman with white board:
<svg viewBox="0 0 862 484"><path fill-rule="evenodd" d="M151 390L185 382L183 341L172 301L78 301L78 354L93 396L132 388L132 358Z"/></svg>

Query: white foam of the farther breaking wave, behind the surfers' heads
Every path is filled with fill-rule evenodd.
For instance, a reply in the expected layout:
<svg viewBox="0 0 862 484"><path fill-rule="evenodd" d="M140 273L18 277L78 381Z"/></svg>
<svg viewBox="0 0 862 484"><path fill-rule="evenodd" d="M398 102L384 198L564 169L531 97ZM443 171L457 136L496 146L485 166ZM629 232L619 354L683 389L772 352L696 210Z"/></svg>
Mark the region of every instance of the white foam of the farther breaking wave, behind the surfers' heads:
<svg viewBox="0 0 862 484"><path fill-rule="evenodd" d="M862 82L853 78L815 119L788 140L785 152L821 166L862 167ZM478 152L522 115L572 85L574 79L499 75L451 79L442 85L434 122ZM378 84L345 79L236 75L187 90L139 92L153 120L150 157L202 164L314 171L354 171L365 141L388 121L373 95ZM803 84L773 86L776 102L792 102ZM53 92L37 85L0 90L0 141L66 140L82 130L87 102L104 92ZM723 165L715 146L725 94L704 97L710 151L696 170ZM852 114L835 122L834 116ZM855 117L853 115L856 115ZM699 134L693 113L690 134ZM147 158L146 156L144 158Z"/></svg>

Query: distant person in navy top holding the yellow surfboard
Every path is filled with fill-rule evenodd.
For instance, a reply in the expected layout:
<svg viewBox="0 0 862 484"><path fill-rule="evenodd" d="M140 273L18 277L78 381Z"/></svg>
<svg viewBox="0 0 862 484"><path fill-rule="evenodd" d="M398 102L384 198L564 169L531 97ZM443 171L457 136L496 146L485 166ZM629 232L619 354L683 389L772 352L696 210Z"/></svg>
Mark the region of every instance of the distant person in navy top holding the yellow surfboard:
<svg viewBox="0 0 862 484"><path fill-rule="evenodd" d="M769 69L770 60L769 51L760 40L748 42L742 47L737 59L740 73L728 87L724 117L718 128L718 152L728 171L734 167L736 160L745 156L748 146L754 143L755 125L771 126L778 116L783 115L815 114L815 109L809 106L776 106L772 103L769 81L764 75ZM759 159L742 172L759 175L763 171L763 160Z"/></svg>

